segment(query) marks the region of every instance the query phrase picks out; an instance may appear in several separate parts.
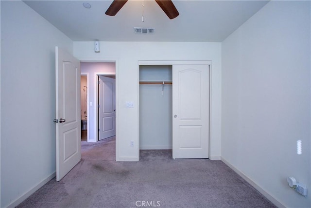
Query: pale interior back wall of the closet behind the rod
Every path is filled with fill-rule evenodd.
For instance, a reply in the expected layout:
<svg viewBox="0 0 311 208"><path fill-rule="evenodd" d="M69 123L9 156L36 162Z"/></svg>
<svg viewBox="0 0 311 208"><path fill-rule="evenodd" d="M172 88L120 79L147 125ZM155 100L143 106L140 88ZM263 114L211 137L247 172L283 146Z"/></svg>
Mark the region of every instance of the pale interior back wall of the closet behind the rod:
<svg viewBox="0 0 311 208"><path fill-rule="evenodd" d="M139 82L139 149L172 149L172 65L140 65Z"/></svg>

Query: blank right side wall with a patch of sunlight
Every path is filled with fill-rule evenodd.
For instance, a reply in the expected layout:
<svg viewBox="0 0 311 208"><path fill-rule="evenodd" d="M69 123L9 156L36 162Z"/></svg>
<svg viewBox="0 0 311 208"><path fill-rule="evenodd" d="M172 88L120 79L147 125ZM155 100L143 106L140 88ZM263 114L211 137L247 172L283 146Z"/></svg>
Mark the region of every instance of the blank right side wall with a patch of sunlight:
<svg viewBox="0 0 311 208"><path fill-rule="evenodd" d="M270 1L222 43L222 159L286 207L311 207L310 19L310 1Z"/></svg>

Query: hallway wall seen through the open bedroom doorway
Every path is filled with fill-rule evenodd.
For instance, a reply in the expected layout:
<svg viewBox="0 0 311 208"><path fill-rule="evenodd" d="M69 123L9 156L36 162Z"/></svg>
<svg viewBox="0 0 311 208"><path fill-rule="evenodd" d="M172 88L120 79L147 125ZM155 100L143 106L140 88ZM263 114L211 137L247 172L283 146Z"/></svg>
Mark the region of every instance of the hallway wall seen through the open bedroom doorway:
<svg viewBox="0 0 311 208"><path fill-rule="evenodd" d="M115 75L115 62L81 62L81 73L88 76L88 118L87 118L87 135L88 142L96 142L98 127L97 127L97 76L98 75ZM92 102L92 106L90 106Z"/></svg>

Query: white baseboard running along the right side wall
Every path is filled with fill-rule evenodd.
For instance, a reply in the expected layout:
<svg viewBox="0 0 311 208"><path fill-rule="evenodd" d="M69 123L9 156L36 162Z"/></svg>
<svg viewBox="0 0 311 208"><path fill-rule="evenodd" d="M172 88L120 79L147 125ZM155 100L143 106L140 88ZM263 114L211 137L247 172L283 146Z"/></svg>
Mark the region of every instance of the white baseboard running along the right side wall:
<svg viewBox="0 0 311 208"><path fill-rule="evenodd" d="M286 208L282 203L276 200L272 195L270 195L267 191L262 189L258 184L256 184L253 180L248 178L244 173L242 173L240 170L238 170L236 167L231 165L228 161L226 161L223 157L221 157L221 160L229 166L232 170L234 170L236 173L238 173L247 183L249 183L252 187L257 189L262 195L264 195L270 202L272 202L276 207L278 208Z"/></svg>

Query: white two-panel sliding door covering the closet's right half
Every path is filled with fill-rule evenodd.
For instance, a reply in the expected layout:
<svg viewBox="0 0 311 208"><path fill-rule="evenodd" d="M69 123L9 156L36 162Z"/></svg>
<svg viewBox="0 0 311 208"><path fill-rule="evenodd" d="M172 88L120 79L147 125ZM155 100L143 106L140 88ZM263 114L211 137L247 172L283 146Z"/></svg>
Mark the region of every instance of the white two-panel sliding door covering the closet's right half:
<svg viewBox="0 0 311 208"><path fill-rule="evenodd" d="M209 66L173 65L173 159L208 158Z"/></svg>

